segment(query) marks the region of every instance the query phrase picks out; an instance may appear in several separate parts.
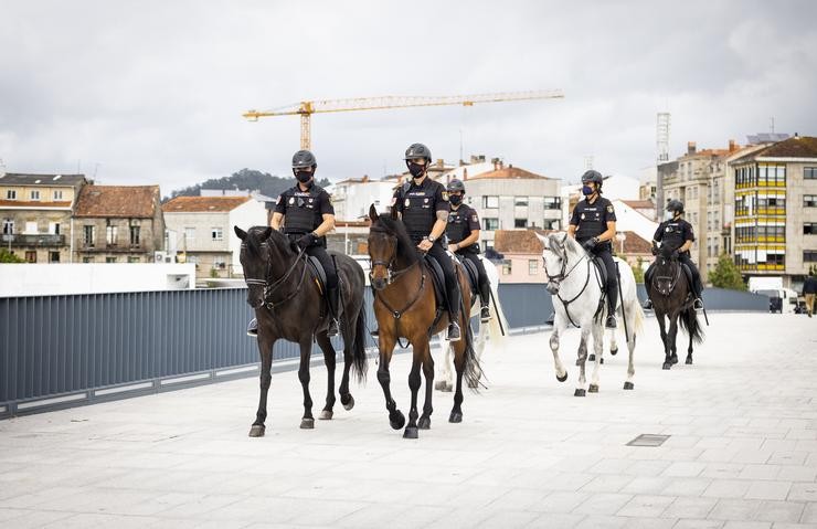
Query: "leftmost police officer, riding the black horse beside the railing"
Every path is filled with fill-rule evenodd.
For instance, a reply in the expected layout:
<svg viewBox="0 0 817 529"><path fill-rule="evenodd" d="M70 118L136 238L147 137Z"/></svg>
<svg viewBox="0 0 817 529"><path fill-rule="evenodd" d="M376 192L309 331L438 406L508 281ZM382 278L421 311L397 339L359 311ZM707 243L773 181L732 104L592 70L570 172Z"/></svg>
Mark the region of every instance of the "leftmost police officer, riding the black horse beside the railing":
<svg viewBox="0 0 817 529"><path fill-rule="evenodd" d="M335 208L329 193L315 183L318 162L308 150L293 156L293 173L297 183L278 195L270 225L282 229L289 240L309 256L317 257L327 278L327 299L331 321L327 336L338 335L338 272L335 261L326 251L326 234L335 228ZM255 325L254 325L255 324ZM257 335L255 319L250 324L248 335Z"/></svg>

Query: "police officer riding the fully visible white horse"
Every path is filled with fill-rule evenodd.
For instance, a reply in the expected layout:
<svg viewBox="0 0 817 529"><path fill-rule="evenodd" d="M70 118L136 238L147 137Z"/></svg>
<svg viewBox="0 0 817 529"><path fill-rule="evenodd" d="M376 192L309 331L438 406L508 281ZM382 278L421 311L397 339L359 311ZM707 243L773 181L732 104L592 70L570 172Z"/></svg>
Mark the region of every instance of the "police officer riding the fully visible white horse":
<svg viewBox="0 0 817 529"><path fill-rule="evenodd" d="M611 241L616 236L616 212L613 203L602 197L604 178L598 171L590 170L582 174L582 194L585 199L573 209L567 233L582 244L587 253L604 263L607 271L607 321L605 327L616 328L616 305L618 301L618 279L613 261Z"/></svg>

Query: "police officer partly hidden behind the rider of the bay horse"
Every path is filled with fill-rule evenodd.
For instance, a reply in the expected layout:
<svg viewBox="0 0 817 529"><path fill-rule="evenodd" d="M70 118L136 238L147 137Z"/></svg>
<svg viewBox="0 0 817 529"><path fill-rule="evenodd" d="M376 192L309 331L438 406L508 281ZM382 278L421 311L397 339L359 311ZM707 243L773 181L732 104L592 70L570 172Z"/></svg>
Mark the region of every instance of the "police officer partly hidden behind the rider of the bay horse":
<svg viewBox="0 0 817 529"><path fill-rule="evenodd" d="M463 203L465 197L465 184L456 178L448 182L448 202L452 204L452 211L448 213L448 226L445 234L448 237L448 251L456 253L463 258L467 258L478 272L479 299L481 309L479 318L482 322L490 320L490 283L488 275L485 273L485 266L479 255L479 216L474 208Z"/></svg>

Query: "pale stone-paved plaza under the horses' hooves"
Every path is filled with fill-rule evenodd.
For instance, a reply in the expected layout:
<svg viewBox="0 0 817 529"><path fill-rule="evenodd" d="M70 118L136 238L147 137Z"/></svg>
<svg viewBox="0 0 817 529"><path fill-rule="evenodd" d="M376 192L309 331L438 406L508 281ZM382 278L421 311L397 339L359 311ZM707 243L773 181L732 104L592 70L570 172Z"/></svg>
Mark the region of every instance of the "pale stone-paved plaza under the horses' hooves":
<svg viewBox="0 0 817 529"><path fill-rule="evenodd" d="M312 431L298 429L295 372L273 377L263 438L247 437L255 379L0 421L0 526L817 527L817 319L710 320L696 364L661 371L648 318L635 391L619 340L584 399L576 331L563 384L548 334L512 337L487 351L464 422L435 392L417 441L390 429L374 361L356 408ZM408 360L392 363L406 415ZM325 387L312 369L316 415ZM627 445L640 434L670 437Z"/></svg>

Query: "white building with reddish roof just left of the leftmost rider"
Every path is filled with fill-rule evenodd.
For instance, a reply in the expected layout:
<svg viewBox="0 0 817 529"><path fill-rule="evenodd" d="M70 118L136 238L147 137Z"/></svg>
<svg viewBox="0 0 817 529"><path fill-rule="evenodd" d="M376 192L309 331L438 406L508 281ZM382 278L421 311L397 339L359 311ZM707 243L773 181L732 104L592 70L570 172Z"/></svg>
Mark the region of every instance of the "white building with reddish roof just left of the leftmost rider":
<svg viewBox="0 0 817 529"><path fill-rule="evenodd" d="M263 202L250 197L176 197L162 205L169 248L195 264L198 277L241 277L241 240L233 226L267 225Z"/></svg>

